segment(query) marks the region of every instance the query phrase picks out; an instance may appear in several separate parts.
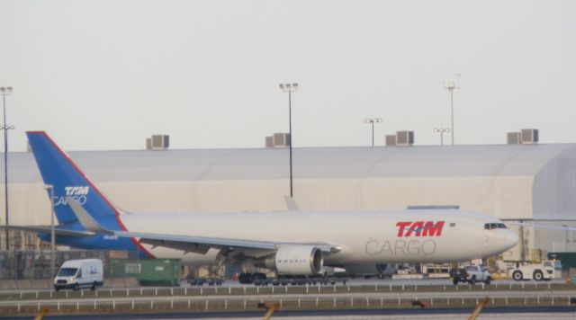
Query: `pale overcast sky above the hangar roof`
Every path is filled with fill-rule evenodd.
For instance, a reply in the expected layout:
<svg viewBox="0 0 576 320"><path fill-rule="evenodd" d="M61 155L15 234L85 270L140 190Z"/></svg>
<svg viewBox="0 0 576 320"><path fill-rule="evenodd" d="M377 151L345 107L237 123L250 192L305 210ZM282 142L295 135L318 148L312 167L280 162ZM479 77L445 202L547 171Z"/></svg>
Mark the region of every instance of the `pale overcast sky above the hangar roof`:
<svg viewBox="0 0 576 320"><path fill-rule="evenodd" d="M46 130L67 150L365 146L410 129L434 145L540 129L576 142L575 1L0 0L11 150Z"/></svg>

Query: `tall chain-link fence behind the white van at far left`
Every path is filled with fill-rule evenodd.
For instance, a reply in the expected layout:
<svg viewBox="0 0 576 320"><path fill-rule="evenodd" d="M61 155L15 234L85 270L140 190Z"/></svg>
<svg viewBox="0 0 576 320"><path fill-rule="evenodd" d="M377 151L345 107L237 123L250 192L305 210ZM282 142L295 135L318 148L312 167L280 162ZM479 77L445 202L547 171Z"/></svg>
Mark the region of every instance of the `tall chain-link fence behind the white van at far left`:
<svg viewBox="0 0 576 320"><path fill-rule="evenodd" d="M0 280L50 280L49 250L0 251ZM136 277L139 273L137 252L99 250L58 250L56 271L67 260L100 259L104 278Z"/></svg>

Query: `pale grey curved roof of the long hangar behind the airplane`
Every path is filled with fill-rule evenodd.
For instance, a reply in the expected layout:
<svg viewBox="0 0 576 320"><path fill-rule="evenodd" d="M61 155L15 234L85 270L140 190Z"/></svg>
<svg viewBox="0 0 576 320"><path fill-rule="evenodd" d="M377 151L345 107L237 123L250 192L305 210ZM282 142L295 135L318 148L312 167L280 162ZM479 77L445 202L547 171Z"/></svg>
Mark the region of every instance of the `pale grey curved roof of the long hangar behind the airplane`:
<svg viewBox="0 0 576 320"><path fill-rule="evenodd" d="M76 151L86 174L106 181L266 180L288 176L288 148ZM296 179L534 176L576 144L293 148ZM31 153L9 156L11 182L40 181ZM3 172L0 176L4 176Z"/></svg>

